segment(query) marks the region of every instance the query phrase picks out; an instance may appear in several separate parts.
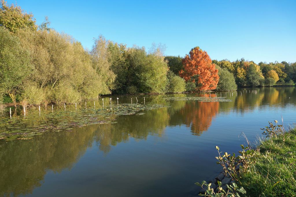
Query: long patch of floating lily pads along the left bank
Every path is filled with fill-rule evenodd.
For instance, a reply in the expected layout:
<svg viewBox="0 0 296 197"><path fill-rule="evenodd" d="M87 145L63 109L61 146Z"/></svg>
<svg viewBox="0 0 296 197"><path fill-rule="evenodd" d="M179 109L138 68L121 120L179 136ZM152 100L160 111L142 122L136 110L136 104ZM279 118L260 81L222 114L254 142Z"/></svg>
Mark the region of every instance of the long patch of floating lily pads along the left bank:
<svg viewBox="0 0 296 197"><path fill-rule="evenodd" d="M116 123L118 115L143 115L144 110L167 107L160 104L119 104L104 108L77 110L37 110L23 115L0 118L0 139L32 139L46 131L71 131L75 127Z"/></svg>

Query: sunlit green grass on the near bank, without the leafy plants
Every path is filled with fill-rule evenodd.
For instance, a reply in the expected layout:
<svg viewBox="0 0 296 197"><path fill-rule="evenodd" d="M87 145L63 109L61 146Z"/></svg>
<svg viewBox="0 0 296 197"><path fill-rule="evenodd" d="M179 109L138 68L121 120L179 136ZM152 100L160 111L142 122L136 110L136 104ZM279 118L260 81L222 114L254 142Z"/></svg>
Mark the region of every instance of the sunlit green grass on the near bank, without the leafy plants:
<svg viewBox="0 0 296 197"><path fill-rule="evenodd" d="M296 196L296 128L260 142L258 160L240 174L246 196Z"/></svg>

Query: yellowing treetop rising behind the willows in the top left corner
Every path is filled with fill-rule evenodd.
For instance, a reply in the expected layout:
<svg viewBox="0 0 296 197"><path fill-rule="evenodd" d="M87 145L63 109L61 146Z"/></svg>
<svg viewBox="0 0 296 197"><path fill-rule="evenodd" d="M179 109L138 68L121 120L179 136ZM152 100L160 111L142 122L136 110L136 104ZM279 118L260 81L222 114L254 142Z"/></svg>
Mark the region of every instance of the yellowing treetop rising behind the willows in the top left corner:
<svg viewBox="0 0 296 197"><path fill-rule="evenodd" d="M0 3L0 26L7 28L11 32L19 29L30 28L37 30L36 21L33 14L27 14L20 6L11 4L10 6L1 0Z"/></svg>

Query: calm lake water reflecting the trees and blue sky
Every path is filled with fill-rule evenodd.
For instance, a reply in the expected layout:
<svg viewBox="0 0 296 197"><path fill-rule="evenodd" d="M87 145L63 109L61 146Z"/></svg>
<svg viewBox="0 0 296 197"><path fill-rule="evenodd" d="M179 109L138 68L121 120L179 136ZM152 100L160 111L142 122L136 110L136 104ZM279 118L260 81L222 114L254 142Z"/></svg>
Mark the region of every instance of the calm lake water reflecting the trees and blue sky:
<svg viewBox="0 0 296 197"><path fill-rule="evenodd" d="M237 152L242 132L254 141L260 127L281 122L281 115L286 126L296 122L295 87L239 89L227 93L231 102L164 99L171 96L145 96L146 103L170 107L119 115L114 124L1 140L0 196L191 196L195 182L220 172L216 145Z"/></svg>

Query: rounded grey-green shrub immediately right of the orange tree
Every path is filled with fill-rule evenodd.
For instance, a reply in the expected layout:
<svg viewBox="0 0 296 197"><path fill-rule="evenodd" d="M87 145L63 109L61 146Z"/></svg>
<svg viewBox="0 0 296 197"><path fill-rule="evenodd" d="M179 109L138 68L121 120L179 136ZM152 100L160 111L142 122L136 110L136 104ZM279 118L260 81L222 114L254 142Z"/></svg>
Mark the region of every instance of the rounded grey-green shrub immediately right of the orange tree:
<svg viewBox="0 0 296 197"><path fill-rule="evenodd" d="M237 84L235 83L233 74L219 66L217 66L217 69L219 70L218 75L220 77L217 90L236 90Z"/></svg>

